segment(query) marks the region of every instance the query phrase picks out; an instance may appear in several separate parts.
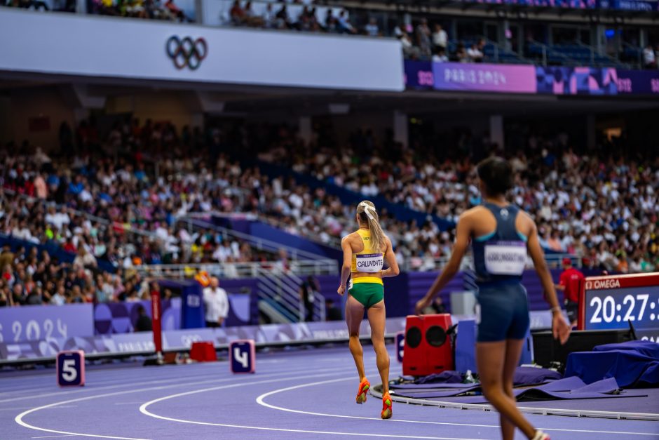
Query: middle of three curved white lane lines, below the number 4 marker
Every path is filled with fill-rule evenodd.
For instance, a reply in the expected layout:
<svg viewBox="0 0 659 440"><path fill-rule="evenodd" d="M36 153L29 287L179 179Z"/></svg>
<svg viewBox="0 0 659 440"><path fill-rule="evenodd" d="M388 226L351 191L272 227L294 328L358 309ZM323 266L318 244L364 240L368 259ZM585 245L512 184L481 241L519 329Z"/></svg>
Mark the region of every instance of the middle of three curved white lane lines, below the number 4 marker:
<svg viewBox="0 0 659 440"><path fill-rule="evenodd" d="M339 372L335 371L334 373L339 373ZM433 436L412 436L412 435L401 435L401 434L370 434L370 433L365 433L365 432L312 431L312 430L309 430L309 429L288 429L288 428L273 428L273 427L262 427L262 426L230 425L228 423L197 422L195 420L170 418L170 417L165 417L164 415L158 415L158 414L155 414L155 413L151 413L151 411L147 410L147 408L149 406L151 406L153 404L157 404L158 402L169 400L169 399L176 399L177 397L182 397L182 396L189 396L191 394L217 391L218 389L228 389L228 388L245 386L245 385L257 385L257 384L262 384L262 383L283 382L285 380L299 380L299 379L305 379L305 378L318 378L320 376L330 375L330 374L296 376L294 378L279 378L279 379L259 380L257 382L249 382L247 384L222 385L222 386L219 386L219 387L196 389L194 391L182 392L182 393L178 393L178 394L171 394L170 396L159 397L158 399L154 399L154 400L148 401L147 403L143 404L142 406L140 406L140 413L142 413L144 415L149 415L149 417L153 417L153 418L157 418L157 419L161 419L161 420L168 420L169 422L180 422L180 423L189 423L191 425L220 426L220 427L239 428L239 429L257 429L259 431L300 432L300 433L304 433L304 434L330 434L330 435L348 435L348 436L386 437L386 438L393 438L393 439L482 440L482 439L469 439L469 438L465 438L465 437L433 437ZM343 378L341 380L346 380L346 379ZM329 381L326 381L326 382L337 382L337 380L329 380ZM378 420L380 420L380 419L378 419ZM380 421L383 422L383 420L380 420ZM386 423L386 422L388 422L388 420L384 421L384 422Z"/></svg>

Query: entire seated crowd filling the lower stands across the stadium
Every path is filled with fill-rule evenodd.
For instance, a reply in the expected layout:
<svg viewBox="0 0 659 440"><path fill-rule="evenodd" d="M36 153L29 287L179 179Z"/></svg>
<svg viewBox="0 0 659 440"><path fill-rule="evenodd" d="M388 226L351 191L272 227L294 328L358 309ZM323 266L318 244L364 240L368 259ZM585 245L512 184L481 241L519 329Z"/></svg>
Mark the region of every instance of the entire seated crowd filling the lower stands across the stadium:
<svg viewBox="0 0 659 440"><path fill-rule="evenodd" d="M55 303L60 302L58 293L67 302L139 298L137 286L143 281L132 278L132 268L141 263L231 265L273 258L217 232L189 232L177 222L189 213L253 213L292 234L337 246L353 229L354 213L352 206L329 194L332 185L364 198L384 196L452 221L480 203L468 155L439 160L423 150L415 154L395 148L367 154L382 152L369 133L351 136L345 147L330 148L328 140L318 141L324 147L304 145L294 131L269 129L256 147L250 137L256 131L236 131L238 138L231 140L242 142L249 154L260 151L262 166L283 164L329 185L311 190L292 178L268 178L254 164L229 158L222 152L226 136L217 130L203 135L185 128L179 135L167 124L125 121L100 142L103 148L90 148L99 142L93 126L93 121L81 124L76 142L63 135L63 156L51 158L41 149L13 145L2 157L1 234L27 244L55 245L76 256L61 263L36 248L19 250L13 258L8 257L11 251L4 252L0 304L9 302L8 295L13 295L11 302L27 303L35 288L42 300ZM585 156L563 144L529 138L526 151L510 158L516 181L512 196L534 215L543 247L576 255L589 267L656 269L656 159ZM189 154L191 150L196 153ZM400 222L386 210L381 210L381 222L402 267L436 269L437 260L451 253L453 232L441 232L434 222ZM99 260L118 272L106 272ZM67 279L79 281L67 284Z"/></svg>

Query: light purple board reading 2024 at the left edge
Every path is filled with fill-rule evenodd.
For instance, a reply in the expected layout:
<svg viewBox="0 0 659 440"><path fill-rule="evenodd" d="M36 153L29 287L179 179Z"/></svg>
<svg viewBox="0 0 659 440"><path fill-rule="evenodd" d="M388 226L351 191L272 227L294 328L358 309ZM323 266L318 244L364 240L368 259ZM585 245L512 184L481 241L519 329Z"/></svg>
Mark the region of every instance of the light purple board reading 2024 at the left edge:
<svg viewBox="0 0 659 440"><path fill-rule="evenodd" d="M93 305L26 305L0 309L0 342L91 336Z"/></svg>

